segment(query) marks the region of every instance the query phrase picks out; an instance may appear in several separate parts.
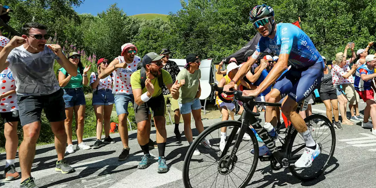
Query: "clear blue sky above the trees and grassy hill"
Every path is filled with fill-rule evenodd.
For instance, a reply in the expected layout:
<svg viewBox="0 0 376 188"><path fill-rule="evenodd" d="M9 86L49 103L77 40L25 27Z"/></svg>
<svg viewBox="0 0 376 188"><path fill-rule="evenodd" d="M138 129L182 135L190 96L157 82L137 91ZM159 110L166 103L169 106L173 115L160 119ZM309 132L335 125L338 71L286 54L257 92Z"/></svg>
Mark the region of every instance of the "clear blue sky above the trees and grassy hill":
<svg viewBox="0 0 376 188"><path fill-rule="evenodd" d="M188 0L185 0L188 2ZM168 14L182 8L180 0L85 0L81 6L74 7L76 12L97 15L105 11L110 5L117 3L127 15L156 13Z"/></svg>

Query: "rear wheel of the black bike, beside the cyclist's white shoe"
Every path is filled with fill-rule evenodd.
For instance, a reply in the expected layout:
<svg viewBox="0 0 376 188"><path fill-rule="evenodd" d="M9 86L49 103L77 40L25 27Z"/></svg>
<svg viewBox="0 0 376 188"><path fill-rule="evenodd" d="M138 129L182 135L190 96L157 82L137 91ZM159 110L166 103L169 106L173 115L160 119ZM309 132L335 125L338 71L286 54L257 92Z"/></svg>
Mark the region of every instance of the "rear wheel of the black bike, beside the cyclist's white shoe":
<svg viewBox="0 0 376 188"><path fill-rule="evenodd" d="M314 114L305 118L308 129L314 141L320 146L321 153L318 155L312 165L307 168L296 168L290 166L291 173L303 181L309 181L320 176L326 169L328 162L332 159L335 149L335 130L333 124L323 115ZM312 127L314 131L312 131ZM304 152L305 141L297 130L291 135L291 141L288 146L289 159L299 159Z"/></svg>

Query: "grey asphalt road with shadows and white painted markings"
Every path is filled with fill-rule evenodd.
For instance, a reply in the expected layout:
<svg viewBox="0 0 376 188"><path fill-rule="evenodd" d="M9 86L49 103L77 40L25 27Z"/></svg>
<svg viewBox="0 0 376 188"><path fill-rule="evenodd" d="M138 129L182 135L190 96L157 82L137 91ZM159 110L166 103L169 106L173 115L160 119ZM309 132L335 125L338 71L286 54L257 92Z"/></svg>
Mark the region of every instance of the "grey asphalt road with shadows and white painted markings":
<svg viewBox="0 0 376 188"><path fill-rule="evenodd" d="M364 107L364 103L359 105L360 109L364 109ZM312 111L314 114L325 115L323 104L314 105ZM263 113L260 118L263 119ZM208 127L219 121L220 119L203 120L203 124L205 127ZM264 120L262 121L264 122ZM194 124L192 127L194 136L197 136ZM335 130L337 142L334 158L329 162L329 167L318 179L310 182L302 182L294 177L288 168L272 171L270 162L259 161L256 172L248 187L375 187L376 166L374 161L376 159L376 136L371 134L370 129L363 129L356 124L354 126L343 125L343 128L343 130ZM180 131L182 130L183 125L180 124ZM157 158L155 158L154 163L147 169L137 169L142 153L137 143L136 131L133 130L129 132L131 155L126 161L119 162L117 160L122 149L122 144L119 135L112 134L111 137L117 141L115 144L109 144L95 150L77 150L73 154L66 155L65 159L67 159L76 171L70 174L61 174L54 170L57 160L55 147L53 144L48 144L37 147L32 165L32 176L35 178L36 184L40 187L182 188L182 167L185 153L188 150L188 143L184 136L182 137L182 143L176 143L173 126L167 126L167 135L165 155L170 170L165 174L158 174L156 172ZM152 129L151 138L155 140L155 129ZM95 138L87 138L84 141L86 144L92 145L95 142ZM150 150L150 153L152 156L158 156L158 149ZM0 161L0 169L3 170L5 153L1 154L0 159L2 159ZM17 171L20 171L18 156L15 165ZM0 173L3 173L3 171L0 171ZM205 176L208 176L208 174L205 174ZM228 177L224 181L228 181ZM0 186L10 188L19 187L20 180L5 182L4 179L1 179ZM228 187L227 184L224 187ZM230 185L229 187L233 186Z"/></svg>

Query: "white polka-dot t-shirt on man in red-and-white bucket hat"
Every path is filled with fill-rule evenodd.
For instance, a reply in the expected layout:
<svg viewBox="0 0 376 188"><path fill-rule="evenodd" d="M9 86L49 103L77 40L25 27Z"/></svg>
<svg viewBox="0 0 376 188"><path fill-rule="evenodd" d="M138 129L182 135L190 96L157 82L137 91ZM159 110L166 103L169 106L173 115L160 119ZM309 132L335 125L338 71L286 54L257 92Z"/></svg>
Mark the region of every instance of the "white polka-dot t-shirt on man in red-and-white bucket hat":
<svg viewBox="0 0 376 188"><path fill-rule="evenodd" d="M119 60L119 63L124 63L124 57L118 56L117 58ZM130 84L130 75L132 75L133 72L137 71L137 64L141 61L141 58L138 56L135 56L133 58L133 62L130 64L127 64L127 68L117 68L112 72L112 79L114 80L114 89L112 90L112 93L114 94L133 94L132 93L132 85Z"/></svg>

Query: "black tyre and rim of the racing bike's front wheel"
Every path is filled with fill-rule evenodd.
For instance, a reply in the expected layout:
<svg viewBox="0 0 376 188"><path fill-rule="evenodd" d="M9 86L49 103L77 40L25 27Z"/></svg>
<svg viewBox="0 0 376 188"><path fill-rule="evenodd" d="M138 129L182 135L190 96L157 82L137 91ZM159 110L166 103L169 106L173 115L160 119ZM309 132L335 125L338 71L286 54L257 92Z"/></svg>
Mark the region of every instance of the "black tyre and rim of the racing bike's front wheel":
<svg viewBox="0 0 376 188"><path fill-rule="evenodd" d="M184 158L184 163L183 163L183 182L184 182L184 186L186 188L197 188L197 187L205 187L205 186L195 186L195 185L192 185L191 184L191 181L190 181L190 164L191 164L191 158L193 156L193 152L197 149L197 147L200 146L200 143L201 141L206 138L206 136L210 135L212 132L220 129L221 127L229 127L229 126L234 126L234 127L238 127L240 129L241 127L241 122L240 121L233 121L233 120L227 120L227 121L221 121L219 123L216 123L210 127L208 127L207 129L205 129L202 133L200 133L199 136L197 136L193 143L191 144L191 146L189 147L186 155L185 155L185 158ZM234 130L232 130L234 131ZM246 142L252 142L253 144L253 149L255 150L255 153L258 154L258 142L257 142L257 139L256 139L256 136L255 134L253 133L253 131L247 127L247 130L246 130L246 133L248 133L250 135L250 141L246 141ZM235 143L237 139L237 136L234 137L233 139L233 142ZM227 140L228 142L229 140ZM242 142L244 142L242 140ZM240 149L238 149L238 152L239 152ZM232 151L232 148L230 147L229 148L229 151L227 151L226 154L230 154ZM249 153L249 151L247 152ZM241 155L241 154L240 154ZM227 156L227 155L226 155ZM223 158L225 158L226 156L224 156ZM250 157L252 158L252 156ZM219 160L218 160L219 161ZM235 187L239 187L239 188L244 188L248 185L249 181L251 180L253 174L255 173L255 170L256 170L256 167L257 167L257 162L258 162L258 155L253 155L253 162L252 162L252 167L250 168L250 171L247 175L247 177L245 178L245 180L243 181L243 183L241 183L240 186L237 186L235 185L235 183L233 185L235 185ZM219 163L218 163L219 164ZM216 165L217 166L217 165ZM199 167L200 168L200 167ZM243 170L244 171L244 170ZM219 174L219 170L218 170L218 174ZM218 174L217 174L217 177L218 177ZM196 175L197 176L197 175ZM226 177L224 178L226 180ZM240 178L239 178L240 179ZM227 180L229 180L229 178L227 177ZM208 186L209 187L209 186ZM211 186L212 187L212 186ZM216 187L216 186L214 186ZM222 187L222 186L220 186ZM230 187L230 186L226 186L225 187ZM233 186L231 186L233 187Z"/></svg>

